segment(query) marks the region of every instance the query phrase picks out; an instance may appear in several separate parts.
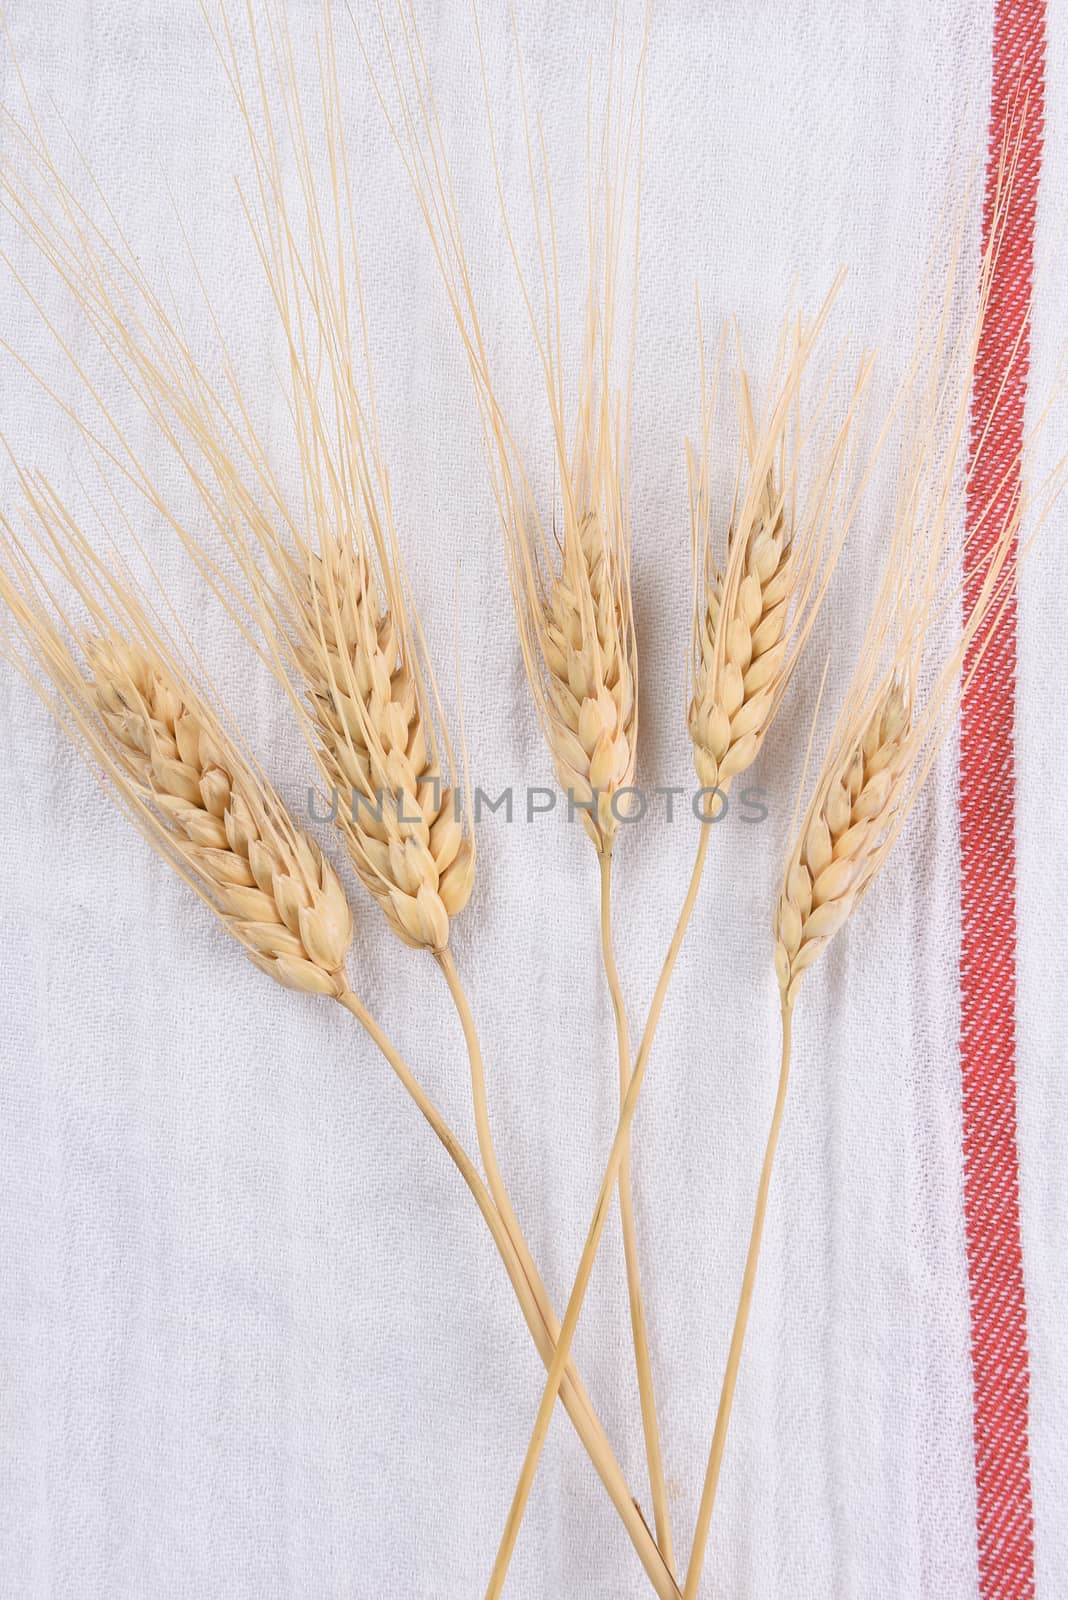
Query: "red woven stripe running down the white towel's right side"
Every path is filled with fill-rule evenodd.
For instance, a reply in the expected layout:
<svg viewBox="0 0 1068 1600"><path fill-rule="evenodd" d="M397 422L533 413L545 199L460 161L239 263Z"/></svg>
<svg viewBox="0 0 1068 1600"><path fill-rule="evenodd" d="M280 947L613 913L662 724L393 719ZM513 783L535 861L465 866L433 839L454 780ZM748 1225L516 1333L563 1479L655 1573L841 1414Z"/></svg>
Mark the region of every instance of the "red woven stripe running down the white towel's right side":
<svg viewBox="0 0 1068 1600"><path fill-rule="evenodd" d="M969 482L966 594L1020 491L1044 86L1044 0L996 0L983 243L1002 150L1018 146L1018 165L975 365L972 448L986 427L990 435ZM983 518L991 502L996 514ZM964 1216L982 1600L1034 1595L1015 1090L1015 666L1010 605L961 707Z"/></svg>

